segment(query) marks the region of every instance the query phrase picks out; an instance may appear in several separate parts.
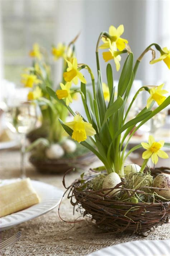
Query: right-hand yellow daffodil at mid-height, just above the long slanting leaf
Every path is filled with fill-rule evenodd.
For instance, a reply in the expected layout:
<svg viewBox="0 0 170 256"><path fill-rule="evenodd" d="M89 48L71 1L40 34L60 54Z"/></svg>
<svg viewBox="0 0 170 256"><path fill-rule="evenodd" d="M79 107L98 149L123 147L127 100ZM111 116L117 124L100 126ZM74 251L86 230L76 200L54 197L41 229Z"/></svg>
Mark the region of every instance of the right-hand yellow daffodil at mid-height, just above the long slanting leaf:
<svg viewBox="0 0 170 256"><path fill-rule="evenodd" d="M168 93L166 90L162 90L162 87L164 86L164 84L161 84L157 87L154 87L152 89L150 89L150 97L147 100L147 109L150 107L152 101L156 101L158 103L158 105L161 105L162 102L164 102L164 100L166 99L165 96L163 96L163 94Z"/></svg>

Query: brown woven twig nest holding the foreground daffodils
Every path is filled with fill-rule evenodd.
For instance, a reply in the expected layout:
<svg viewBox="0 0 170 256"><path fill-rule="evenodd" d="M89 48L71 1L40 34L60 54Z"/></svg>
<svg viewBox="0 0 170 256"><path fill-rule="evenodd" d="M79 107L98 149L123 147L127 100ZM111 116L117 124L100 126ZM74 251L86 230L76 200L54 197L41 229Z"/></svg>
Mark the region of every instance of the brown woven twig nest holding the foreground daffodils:
<svg viewBox="0 0 170 256"><path fill-rule="evenodd" d="M151 171L153 177L159 173L170 173L166 168ZM88 181L96 174L86 177ZM63 180L63 185L65 181ZM71 204L80 210L81 215L91 217L96 224L113 233L131 232L146 234L154 227L167 223L170 217L170 202L131 203L120 202L103 193L103 190L93 191L80 189L80 180L76 180L69 188L68 198ZM76 202L74 202L74 198Z"/></svg>

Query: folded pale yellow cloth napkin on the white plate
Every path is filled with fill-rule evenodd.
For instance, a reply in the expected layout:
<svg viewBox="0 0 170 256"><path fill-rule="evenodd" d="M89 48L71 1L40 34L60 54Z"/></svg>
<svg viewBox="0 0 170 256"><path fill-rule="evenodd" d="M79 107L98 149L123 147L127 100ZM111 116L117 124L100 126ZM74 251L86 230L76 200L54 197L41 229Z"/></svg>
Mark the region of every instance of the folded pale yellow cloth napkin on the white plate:
<svg viewBox="0 0 170 256"><path fill-rule="evenodd" d="M37 203L39 203L39 198L29 178L0 186L0 217L21 211Z"/></svg>

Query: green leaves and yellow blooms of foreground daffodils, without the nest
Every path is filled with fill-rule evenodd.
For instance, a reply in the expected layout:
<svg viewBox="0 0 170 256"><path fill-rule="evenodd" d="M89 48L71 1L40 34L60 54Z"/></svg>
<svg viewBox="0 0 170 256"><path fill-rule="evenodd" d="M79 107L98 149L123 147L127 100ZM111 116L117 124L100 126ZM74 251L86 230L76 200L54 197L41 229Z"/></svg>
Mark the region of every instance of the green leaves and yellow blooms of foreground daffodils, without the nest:
<svg viewBox="0 0 170 256"><path fill-rule="evenodd" d="M60 120L62 127L72 139L77 140L98 156L105 165L108 174L116 172L121 177L124 176L124 163L127 156L134 150L142 147L140 144L127 151L127 146L133 134L162 109L165 109L170 103L170 96L164 96L166 91L162 89L163 85L154 87L150 87L149 85L142 86L137 91L134 91L132 102L128 103L127 100L129 94L132 92L132 84L138 65L133 65L133 53L131 50L127 49L126 45L128 41L121 37L123 31L124 27L120 25L118 28L110 26L109 33L101 32L96 45L96 66L98 71L96 84L89 65L79 63L77 59L73 59L72 63L67 61L68 68L64 73L64 78L66 82L71 84L77 84L80 80L81 86L76 92L81 94L86 118L82 117L81 112L74 112L71 109L71 102L69 102L69 105L66 107L73 115L73 120L70 123ZM99 47L101 39L104 44ZM151 45L148 49L150 47ZM155 47L161 52L159 45L155 45ZM117 91L115 91L112 66L110 63L108 63L106 69L107 81L104 81L105 83L102 82L98 55L100 48L104 49L104 51L106 49L108 50L107 54L104 54L104 58L107 57L105 60L107 59L108 61L114 59L117 70L120 68L120 63L118 63L120 62L120 58L116 59L117 56L128 53L121 71ZM147 51L145 51L145 53L146 52ZM141 59L137 60L139 63L140 61ZM90 73L93 93L87 91L86 74L84 76L82 75L82 69L87 69ZM61 97L61 95L67 94L65 88L63 88L63 90L64 91L60 92L61 94L57 97L56 93L54 93L51 88L47 89L51 97L66 105L64 97ZM72 90L72 85L70 90ZM146 106L133 119L127 122L133 102L143 90L150 95L146 100ZM158 106L152 109L155 102L157 102ZM88 130L89 128L90 131ZM86 140L87 137L91 138L93 146ZM165 145L168 146L169 144Z"/></svg>

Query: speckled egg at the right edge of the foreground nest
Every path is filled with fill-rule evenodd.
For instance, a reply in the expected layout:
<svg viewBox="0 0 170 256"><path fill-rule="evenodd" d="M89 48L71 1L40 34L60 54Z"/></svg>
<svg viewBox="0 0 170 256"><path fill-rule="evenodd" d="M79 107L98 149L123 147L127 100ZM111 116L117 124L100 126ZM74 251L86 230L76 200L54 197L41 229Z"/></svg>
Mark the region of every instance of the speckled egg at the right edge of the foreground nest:
<svg viewBox="0 0 170 256"><path fill-rule="evenodd" d="M159 187L160 189L168 190L159 190L155 189L155 192L166 199L170 199L170 175L166 173L161 173L154 179L154 187Z"/></svg>

